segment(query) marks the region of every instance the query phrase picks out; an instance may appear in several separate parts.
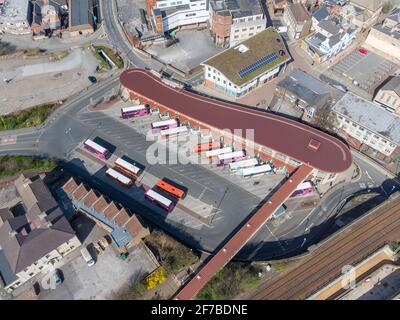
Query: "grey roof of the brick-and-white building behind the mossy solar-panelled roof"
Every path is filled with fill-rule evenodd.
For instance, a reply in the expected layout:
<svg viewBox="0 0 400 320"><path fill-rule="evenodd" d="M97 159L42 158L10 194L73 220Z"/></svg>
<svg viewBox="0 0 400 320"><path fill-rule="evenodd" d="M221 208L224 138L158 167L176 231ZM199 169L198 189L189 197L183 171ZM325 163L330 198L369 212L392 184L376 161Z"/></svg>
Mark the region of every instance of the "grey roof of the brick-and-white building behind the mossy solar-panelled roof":
<svg viewBox="0 0 400 320"><path fill-rule="evenodd" d="M210 0L212 9L222 15L241 18L264 14L258 0Z"/></svg>

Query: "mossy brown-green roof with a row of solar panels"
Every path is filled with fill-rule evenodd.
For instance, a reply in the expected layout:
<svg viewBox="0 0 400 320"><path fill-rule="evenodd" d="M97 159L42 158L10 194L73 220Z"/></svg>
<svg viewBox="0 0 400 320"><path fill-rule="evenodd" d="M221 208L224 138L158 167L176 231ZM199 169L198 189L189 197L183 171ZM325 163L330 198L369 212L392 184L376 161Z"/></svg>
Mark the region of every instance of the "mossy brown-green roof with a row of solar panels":
<svg viewBox="0 0 400 320"><path fill-rule="evenodd" d="M246 52L238 50L239 47L247 47ZM251 73L241 77L239 72L258 60L274 54L275 59L261 65ZM223 73L232 83L241 86L258 75L273 69L291 60L289 53L279 33L272 27L258 33L254 37L243 41L240 45L225 50L216 56L204 61L202 64L212 66Z"/></svg>

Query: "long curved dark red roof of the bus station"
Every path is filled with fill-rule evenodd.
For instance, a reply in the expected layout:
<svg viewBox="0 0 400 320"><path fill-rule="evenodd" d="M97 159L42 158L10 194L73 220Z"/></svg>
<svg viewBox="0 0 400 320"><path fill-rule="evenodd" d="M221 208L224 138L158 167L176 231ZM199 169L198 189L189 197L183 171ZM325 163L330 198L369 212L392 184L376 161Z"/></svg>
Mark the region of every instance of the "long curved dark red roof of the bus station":
<svg viewBox="0 0 400 320"><path fill-rule="evenodd" d="M123 87L151 99L194 123L216 129L253 129L254 142L288 155L299 162L325 172L347 170L352 157L341 140L307 126L259 109L219 101L167 86L161 79L143 69L130 69L120 76ZM318 150L310 142L320 142Z"/></svg>

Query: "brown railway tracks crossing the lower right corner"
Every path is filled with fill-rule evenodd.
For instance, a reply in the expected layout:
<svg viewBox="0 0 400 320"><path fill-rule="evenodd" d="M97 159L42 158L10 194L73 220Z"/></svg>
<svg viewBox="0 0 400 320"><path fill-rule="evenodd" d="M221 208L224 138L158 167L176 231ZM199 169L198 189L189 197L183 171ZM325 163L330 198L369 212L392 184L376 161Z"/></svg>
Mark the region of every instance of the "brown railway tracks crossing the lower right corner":
<svg viewBox="0 0 400 320"><path fill-rule="evenodd" d="M400 239L400 197L353 223L290 269L265 283L250 299L305 299L383 244Z"/></svg>

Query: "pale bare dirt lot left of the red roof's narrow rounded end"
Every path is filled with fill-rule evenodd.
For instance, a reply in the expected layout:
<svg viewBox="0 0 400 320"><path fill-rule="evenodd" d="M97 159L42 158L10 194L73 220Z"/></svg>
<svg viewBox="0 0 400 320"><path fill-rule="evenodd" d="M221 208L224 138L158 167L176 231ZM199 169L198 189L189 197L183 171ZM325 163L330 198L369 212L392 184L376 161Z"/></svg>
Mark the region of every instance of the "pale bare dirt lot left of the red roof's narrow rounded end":
<svg viewBox="0 0 400 320"><path fill-rule="evenodd" d="M90 85L87 77L96 66L87 49L75 49L52 62L45 58L0 60L0 114L65 99Z"/></svg>

